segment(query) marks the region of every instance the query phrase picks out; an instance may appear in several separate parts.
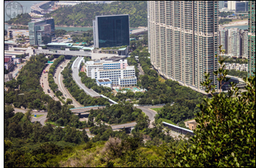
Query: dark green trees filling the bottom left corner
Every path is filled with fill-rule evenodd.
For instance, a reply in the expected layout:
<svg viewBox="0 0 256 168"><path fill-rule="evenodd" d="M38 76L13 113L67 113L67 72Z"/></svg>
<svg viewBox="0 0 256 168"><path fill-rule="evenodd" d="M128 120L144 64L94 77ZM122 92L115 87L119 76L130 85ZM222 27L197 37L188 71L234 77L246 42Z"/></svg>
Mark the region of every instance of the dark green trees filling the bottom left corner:
<svg viewBox="0 0 256 168"><path fill-rule="evenodd" d="M30 111L25 115L13 111L12 105L4 106L4 167L59 167L53 159L61 151L89 141L84 130L42 127L31 123Z"/></svg>

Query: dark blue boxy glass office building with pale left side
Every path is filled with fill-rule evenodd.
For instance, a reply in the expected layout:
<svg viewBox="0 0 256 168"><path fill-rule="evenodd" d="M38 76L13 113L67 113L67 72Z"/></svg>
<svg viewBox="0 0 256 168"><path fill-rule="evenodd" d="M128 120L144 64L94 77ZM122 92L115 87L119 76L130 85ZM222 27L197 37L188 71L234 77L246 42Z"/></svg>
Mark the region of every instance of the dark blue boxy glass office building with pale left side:
<svg viewBox="0 0 256 168"><path fill-rule="evenodd" d="M96 16L94 47L129 46L129 15Z"/></svg>

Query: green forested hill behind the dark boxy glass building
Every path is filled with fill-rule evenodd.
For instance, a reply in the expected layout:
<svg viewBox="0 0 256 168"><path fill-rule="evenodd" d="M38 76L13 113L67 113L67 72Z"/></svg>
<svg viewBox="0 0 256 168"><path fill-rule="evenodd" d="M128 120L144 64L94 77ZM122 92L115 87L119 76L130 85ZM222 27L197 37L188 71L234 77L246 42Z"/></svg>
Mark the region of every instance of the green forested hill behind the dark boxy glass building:
<svg viewBox="0 0 256 168"><path fill-rule="evenodd" d="M147 1L115 1L111 4L82 3L73 7L60 7L46 17L53 17L56 25L92 26L99 15L129 14L129 27L146 27Z"/></svg>

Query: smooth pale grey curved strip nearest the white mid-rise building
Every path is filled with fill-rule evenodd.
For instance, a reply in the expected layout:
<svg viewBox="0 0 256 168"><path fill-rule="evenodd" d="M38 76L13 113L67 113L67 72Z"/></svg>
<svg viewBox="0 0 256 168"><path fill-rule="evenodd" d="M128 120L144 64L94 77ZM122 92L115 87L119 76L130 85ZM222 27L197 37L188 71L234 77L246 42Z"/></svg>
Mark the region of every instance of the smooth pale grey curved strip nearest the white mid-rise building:
<svg viewBox="0 0 256 168"><path fill-rule="evenodd" d="M82 62L82 60L83 60L83 57L78 57L72 64L72 78L74 79L75 83L78 84L78 87L80 87L80 89L83 89L87 95L91 97L100 97L100 95L97 92L95 92L93 89L89 89L88 87L86 87L82 83L80 76L78 76L80 63Z"/></svg>

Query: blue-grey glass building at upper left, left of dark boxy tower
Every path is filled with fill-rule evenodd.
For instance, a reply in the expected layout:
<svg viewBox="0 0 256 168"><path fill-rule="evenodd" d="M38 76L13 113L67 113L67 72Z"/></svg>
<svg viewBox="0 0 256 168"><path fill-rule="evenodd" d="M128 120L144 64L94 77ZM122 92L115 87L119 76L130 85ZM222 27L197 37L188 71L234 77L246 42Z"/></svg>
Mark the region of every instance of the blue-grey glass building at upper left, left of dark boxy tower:
<svg viewBox="0 0 256 168"><path fill-rule="evenodd" d="M29 43L31 45L50 43L54 36L55 25L53 18L40 18L29 23Z"/></svg>

